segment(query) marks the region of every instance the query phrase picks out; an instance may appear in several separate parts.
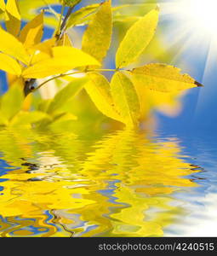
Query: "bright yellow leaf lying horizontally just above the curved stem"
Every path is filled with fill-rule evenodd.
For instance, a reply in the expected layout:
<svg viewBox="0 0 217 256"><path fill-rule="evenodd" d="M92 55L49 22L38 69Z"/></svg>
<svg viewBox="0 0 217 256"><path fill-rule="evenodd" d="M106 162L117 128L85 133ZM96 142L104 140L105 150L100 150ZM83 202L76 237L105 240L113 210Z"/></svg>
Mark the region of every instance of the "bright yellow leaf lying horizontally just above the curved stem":
<svg viewBox="0 0 217 256"><path fill-rule="evenodd" d="M28 79L41 79L51 75L66 73L75 67L89 65L100 66L92 56L84 53L81 49L58 46L52 49L53 58L38 61L35 65L27 67L23 77Z"/></svg>

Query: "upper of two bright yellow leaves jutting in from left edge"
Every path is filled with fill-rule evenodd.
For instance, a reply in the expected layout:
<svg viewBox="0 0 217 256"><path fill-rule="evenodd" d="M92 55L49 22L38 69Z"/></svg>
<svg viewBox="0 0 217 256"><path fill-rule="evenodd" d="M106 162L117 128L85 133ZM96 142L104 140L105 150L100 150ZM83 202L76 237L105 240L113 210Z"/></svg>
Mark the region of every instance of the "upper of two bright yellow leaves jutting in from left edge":
<svg viewBox="0 0 217 256"><path fill-rule="evenodd" d="M17 60L28 64L30 56L17 38L14 38L13 35L4 31L2 28L0 28L0 38L0 51L12 55Z"/></svg>

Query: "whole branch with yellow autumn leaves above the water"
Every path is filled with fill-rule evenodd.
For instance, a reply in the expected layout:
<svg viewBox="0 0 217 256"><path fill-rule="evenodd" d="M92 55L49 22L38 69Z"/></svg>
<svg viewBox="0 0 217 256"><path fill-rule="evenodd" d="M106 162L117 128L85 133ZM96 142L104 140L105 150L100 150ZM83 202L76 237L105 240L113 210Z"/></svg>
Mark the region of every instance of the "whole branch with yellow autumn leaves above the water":
<svg viewBox="0 0 217 256"><path fill-rule="evenodd" d="M5 15L7 31L0 28L0 69L23 81L25 95L38 90L48 82L83 73L85 79L77 79L67 85L54 100L49 102L44 114L53 113L51 106L59 106L58 101L66 101L77 91L84 88L96 108L111 119L125 124L128 128L139 125L144 104L144 90L155 90L170 93L202 86L187 74L181 74L180 69L166 64L152 63L143 67L133 65L155 35L158 23L159 8L149 11L145 16L135 21L128 29L116 53L116 68L101 68L108 50L111 47L112 12L111 0L101 4L93 4L73 12L81 0L61 0L62 10L59 25L53 38L41 42L44 29L44 12L41 12L20 30L20 10L17 0L0 3L0 9ZM65 8L68 8L64 16ZM67 29L77 20L88 23L83 34L82 49L72 46ZM79 22L78 22L79 23ZM102 72L113 72L109 82ZM47 79L46 79L47 78ZM37 84L38 79L45 79ZM66 97L66 98L64 98ZM57 108L55 107L55 111ZM1 112L1 110L0 110ZM59 115L58 115L59 114ZM60 116L58 113L52 119ZM44 117L43 117L44 118ZM50 119L50 117L46 117ZM8 122L8 121L7 121ZM6 122L6 123L7 123ZM4 122L5 123L5 122Z"/></svg>

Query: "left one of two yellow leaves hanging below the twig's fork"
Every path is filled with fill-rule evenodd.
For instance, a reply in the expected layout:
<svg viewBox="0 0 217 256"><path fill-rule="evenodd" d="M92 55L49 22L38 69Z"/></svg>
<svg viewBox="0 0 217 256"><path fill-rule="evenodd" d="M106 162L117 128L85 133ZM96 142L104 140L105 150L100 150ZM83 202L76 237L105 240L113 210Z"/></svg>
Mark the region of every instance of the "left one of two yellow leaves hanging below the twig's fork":
<svg viewBox="0 0 217 256"><path fill-rule="evenodd" d="M114 108L110 84L107 79L100 73L94 72L89 73L89 79L89 83L85 85L85 90L87 90L96 108L111 119L122 121L121 116Z"/></svg>

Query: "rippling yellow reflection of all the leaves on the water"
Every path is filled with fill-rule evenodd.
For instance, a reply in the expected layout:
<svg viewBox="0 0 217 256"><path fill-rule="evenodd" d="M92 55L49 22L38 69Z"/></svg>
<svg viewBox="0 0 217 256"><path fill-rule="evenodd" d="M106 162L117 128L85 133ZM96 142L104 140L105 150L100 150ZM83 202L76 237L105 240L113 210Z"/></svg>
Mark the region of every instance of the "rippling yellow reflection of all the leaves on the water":
<svg viewBox="0 0 217 256"><path fill-rule="evenodd" d="M196 186L183 177L197 171L180 159L175 142L151 142L146 134L119 131L89 148L69 134L56 140L52 133L21 134L0 132L4 158L21 166L17 155L31 159L37 154L37 164L25 163L3 175L8 179L1 183L3 217L43 218L52 209L56 223L77 236L163 236L163 228L180 214L171 206L172 193ZM150 208L160 211L150 214ZM79 227L71 226L75 215Z"/></svg>

